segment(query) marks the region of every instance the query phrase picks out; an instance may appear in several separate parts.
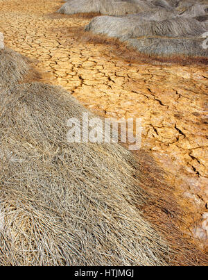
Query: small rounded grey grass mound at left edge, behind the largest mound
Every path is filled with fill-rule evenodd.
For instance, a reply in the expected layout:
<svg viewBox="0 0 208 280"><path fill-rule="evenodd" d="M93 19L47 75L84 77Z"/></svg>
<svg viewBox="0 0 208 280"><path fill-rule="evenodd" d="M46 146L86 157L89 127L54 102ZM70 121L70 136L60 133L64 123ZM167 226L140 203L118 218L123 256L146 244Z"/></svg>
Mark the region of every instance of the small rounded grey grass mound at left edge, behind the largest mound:
<svg viewBox="0 0 208 280"><path fill-rule="evenodd" d="M0 89L23 81L31 71L31 61L11 49L0 49Z"/></svg>

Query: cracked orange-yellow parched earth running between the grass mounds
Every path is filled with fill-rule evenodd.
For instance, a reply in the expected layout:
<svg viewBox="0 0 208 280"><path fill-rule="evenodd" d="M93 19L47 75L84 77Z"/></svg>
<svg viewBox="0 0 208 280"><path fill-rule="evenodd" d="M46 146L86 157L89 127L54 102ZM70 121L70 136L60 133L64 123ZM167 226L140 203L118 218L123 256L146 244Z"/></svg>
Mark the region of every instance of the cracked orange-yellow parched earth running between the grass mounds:
<svg viewBox="0 0 208 280"><path fill-rule="evenodd" d="M70 30L89 19L55 14L58 0L0 0L6 47L33 59L96 113L141 117L142 147L166 171L191 215L187 232L208 248L208 99L206 67L130 64L110 47L78 42ZM208 220L208 219L207 219Z"/></svg>

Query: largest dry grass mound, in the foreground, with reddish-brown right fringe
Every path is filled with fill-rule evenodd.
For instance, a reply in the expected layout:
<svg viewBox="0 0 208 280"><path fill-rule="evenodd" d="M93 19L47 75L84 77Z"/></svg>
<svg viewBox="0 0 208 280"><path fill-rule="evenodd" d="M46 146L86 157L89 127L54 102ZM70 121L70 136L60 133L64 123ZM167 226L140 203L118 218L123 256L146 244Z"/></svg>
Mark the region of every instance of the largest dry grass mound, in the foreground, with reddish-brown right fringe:
<svg viewBox="0 0 208 280"><path fill-rule="evenodd" d="M137 175L139 163L119 144L67 142L67 120L83 112L51 85L1 91L0 265L205 265L174 236L175 206L147 180L150 167Z"/></svg>

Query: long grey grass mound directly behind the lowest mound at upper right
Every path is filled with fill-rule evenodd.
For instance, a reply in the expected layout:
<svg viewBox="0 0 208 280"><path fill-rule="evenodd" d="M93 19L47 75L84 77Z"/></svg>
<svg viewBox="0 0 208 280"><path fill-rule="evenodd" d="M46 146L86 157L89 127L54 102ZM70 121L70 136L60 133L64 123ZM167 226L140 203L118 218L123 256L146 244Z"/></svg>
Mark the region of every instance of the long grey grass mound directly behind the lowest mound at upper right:
<svg viewBox="0 0 208 280"><path fill-rule="evenodd" d="M162 20L161 22L152 19L141 22L140 15L135 15L132 17L95 17L85 27L85 31L128 40L141 36L199 36L205 33L206 28L196 19L175 17Z"/></svg>

